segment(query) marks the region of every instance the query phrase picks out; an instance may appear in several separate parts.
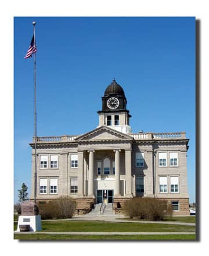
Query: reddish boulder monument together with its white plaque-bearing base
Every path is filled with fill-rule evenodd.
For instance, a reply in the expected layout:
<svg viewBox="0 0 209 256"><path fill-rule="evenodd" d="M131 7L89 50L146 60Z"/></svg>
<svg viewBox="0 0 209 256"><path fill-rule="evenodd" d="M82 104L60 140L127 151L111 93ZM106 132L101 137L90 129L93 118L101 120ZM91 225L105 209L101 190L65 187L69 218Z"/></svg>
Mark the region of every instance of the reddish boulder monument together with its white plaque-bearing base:
<svg viewBox="0 0 209 256"><path fill-rule="evenodd" d="M23 202L21 204L21 215L18 219L17 232L26 231L39 231L41 228L41 215L38 214L38 206L34 202ZM22 229L23 228L23 229Z"/></svg>

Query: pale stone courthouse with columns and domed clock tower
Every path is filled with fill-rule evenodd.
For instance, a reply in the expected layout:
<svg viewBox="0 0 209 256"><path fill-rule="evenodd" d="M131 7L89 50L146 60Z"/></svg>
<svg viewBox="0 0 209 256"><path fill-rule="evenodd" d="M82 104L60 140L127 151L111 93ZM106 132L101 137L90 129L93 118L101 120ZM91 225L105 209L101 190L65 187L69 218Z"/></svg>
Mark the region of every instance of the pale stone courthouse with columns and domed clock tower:
<svg viewBox="0 0 209 256"><path fill-rule="evenodd" d="M132 133L127 99L114 79L98 115L98 127L88 133L37 137L37 201L70 195L78 209L88 209L104 199L122 207L135 196L164 198L174 214L189 215L185 131Z"/></svg>

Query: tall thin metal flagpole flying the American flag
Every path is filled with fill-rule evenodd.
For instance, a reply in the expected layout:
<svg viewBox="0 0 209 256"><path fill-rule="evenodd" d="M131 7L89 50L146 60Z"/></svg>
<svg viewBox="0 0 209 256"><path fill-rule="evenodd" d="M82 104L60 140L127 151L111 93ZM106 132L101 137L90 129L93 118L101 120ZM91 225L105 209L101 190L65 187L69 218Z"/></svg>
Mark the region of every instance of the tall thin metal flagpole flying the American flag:
<svg viewBox="0 0 209 256"><path fill-rule="evenodd" d="M35 45L35 24L34 26L34 45ZM34 184L34 202L37 201L37 99L36 99L36 53L34 52L34 140L35 140L35 184Z"/></svg>

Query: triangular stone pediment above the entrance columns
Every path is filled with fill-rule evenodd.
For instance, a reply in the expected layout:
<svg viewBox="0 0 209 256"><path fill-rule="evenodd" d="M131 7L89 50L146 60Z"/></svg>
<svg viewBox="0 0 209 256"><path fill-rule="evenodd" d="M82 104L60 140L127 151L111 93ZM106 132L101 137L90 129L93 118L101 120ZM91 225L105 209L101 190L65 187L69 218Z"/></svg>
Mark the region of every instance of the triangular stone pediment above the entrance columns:
<svg viewBox="0 0 209 256"><path fill-rule="evenodd" d="M133 140L133 138L127 134L120 133L107 126L100 126L95 130L89 131L75 138L77 141L101 141L101 140Z"/></svg>

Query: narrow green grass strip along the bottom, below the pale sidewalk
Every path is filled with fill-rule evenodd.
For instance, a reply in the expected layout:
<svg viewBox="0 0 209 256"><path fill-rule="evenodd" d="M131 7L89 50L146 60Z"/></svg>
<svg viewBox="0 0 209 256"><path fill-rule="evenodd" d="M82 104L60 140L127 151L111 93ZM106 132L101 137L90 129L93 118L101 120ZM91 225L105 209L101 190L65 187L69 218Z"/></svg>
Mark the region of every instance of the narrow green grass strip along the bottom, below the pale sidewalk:
<svg viewBox="0 0 209 256"><path fill-rule="evenodd" d="M69 234L15 234L19 240L195 240L195 234L161 234L161 235L69 235Z"/></svg>

